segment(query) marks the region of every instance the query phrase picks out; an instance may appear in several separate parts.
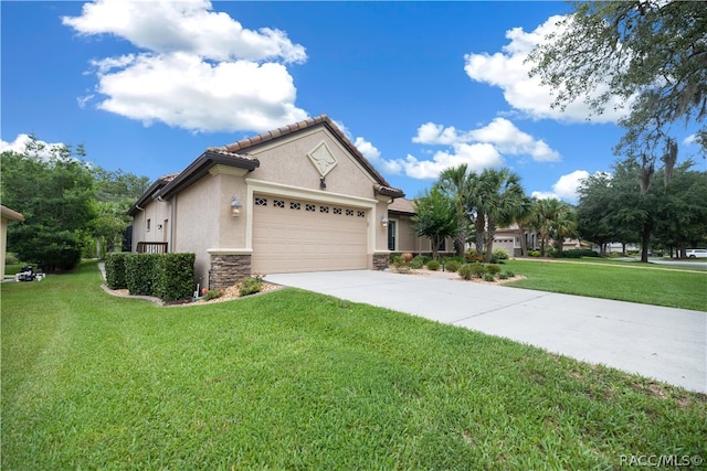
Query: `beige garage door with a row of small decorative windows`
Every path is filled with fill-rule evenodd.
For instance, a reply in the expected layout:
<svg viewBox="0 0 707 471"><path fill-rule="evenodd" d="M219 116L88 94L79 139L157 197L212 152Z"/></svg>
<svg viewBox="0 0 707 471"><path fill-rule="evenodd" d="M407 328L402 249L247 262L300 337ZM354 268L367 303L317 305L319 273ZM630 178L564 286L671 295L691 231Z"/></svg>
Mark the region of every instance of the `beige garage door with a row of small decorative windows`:
<svg viewBox="0 0 707 471"><path fill-rule="evenodd" d="M255 195L253 271L366 269L367 254L365 210Z"/></svg>

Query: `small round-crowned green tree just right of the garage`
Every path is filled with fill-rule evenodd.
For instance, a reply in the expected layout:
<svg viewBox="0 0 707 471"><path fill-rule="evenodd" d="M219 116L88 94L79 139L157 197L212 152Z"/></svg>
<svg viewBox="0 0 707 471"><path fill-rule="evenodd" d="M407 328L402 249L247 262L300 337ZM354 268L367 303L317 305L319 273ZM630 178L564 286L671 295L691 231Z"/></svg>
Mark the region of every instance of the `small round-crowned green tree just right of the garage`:
<svg viewBox="0 0 707 471"><path fill-rule="evenodd" d="M458 231L456 205L454 200L445 195L439 186L418 196L414 201L415 215L412 216L418 236L430 237L432 257L437 259L442 242L454 237Z"/></svg>

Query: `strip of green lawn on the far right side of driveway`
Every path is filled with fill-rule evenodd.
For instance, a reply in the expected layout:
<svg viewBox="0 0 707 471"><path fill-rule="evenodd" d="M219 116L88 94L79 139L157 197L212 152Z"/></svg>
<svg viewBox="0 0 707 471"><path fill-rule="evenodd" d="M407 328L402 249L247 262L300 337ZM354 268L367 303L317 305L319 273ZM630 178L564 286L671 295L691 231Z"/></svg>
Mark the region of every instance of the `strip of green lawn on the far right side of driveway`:
<svg viewBox="0 0 707 471"><path fill-rule="evenodd" d="M591 260L591 261L585 261ZM524 275L506 286L707 311L707 274L678 267L578 260L506 260Z"/></svg>

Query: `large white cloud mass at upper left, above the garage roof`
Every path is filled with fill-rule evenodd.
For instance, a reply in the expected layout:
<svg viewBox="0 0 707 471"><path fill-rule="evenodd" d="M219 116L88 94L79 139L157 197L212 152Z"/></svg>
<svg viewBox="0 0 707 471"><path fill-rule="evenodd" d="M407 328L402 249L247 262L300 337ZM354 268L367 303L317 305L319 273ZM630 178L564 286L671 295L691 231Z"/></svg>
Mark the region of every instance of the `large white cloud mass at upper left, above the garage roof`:
<svg viewBox="0 0 707 471"><path fill-rule="evenodd" d="M304 62L304 47L282 31L246 30L208 1L97 0L63 22L141 50L91 62L99 109L194 131L265 131L307 117L284 65Z"/></svg>

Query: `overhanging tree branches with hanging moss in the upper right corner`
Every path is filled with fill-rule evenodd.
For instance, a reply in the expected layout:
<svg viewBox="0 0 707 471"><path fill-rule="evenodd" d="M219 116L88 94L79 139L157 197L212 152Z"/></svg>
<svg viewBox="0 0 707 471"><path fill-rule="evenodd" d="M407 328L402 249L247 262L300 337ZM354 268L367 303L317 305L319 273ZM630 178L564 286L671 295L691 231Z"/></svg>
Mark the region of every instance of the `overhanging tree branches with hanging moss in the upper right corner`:
<svg viewBox="0 0 707 471"><path fill-rule="evenodd" d="M579 98L598 114L615 99L629 106L623 144L654 153L666 125L707 116L706 31L707 2L574 2L527 61L555 90L556 107Z"/></svg>

